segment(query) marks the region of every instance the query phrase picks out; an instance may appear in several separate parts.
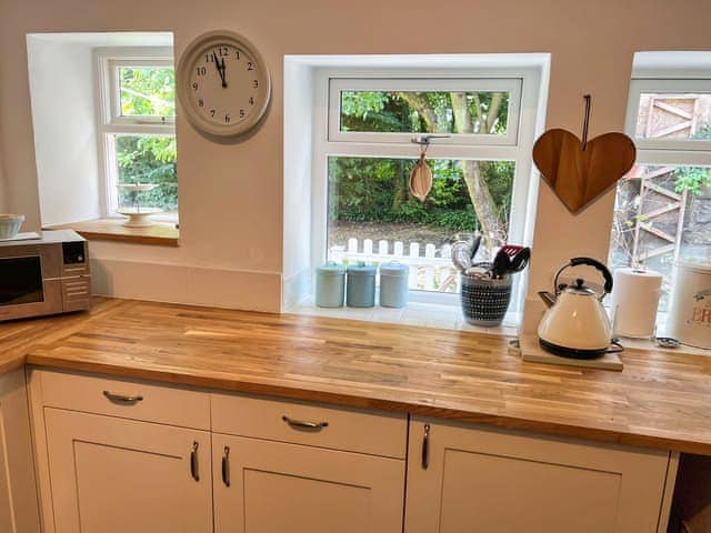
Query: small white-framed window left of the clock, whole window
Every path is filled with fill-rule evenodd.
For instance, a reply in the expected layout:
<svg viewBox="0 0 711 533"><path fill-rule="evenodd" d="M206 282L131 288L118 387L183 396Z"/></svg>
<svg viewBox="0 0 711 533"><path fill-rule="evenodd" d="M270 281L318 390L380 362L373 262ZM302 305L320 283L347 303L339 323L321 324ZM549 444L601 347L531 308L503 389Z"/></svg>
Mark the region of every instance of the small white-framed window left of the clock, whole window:
<svg viewBox="0 0 711 533"><path fill-rule="evenodd" d="M106 215L150 208L177 222L172 49L98 49L97 58Z"/></svg>

